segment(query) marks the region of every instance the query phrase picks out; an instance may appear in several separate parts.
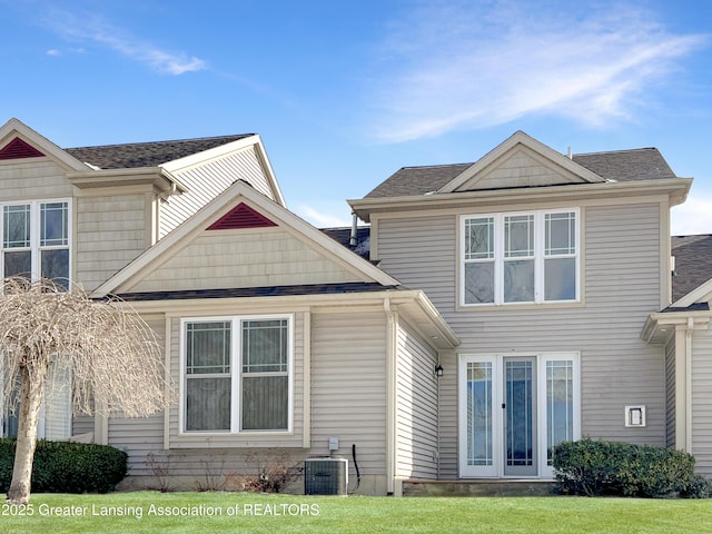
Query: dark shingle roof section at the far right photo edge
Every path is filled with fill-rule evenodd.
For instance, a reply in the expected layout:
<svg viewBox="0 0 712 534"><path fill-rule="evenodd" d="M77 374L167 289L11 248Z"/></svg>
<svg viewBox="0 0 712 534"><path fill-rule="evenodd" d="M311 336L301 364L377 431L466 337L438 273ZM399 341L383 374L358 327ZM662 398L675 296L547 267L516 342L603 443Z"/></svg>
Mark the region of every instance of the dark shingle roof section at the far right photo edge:
<svg viewBox="0 0 712 534"><path fill-rule="evenodd" d="M673 236L672 301L676 301L712 278L712 235Z"/></svg>

